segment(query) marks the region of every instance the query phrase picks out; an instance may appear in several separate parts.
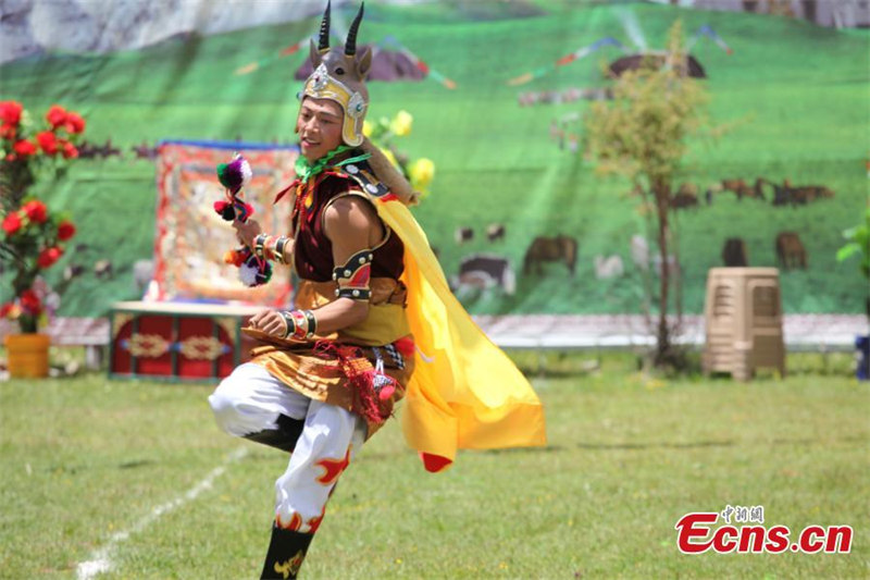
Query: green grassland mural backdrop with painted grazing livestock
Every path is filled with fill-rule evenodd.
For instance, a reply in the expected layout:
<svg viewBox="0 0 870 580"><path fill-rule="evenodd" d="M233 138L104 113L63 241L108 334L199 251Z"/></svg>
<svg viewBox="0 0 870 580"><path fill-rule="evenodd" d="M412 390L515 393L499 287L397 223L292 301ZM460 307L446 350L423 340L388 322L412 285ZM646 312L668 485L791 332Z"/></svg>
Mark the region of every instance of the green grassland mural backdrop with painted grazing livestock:
<svg viewBox="0 0 870 580"><path fill-rule="evenodd" d="M462 5L370 2L361 40L381 51L370 116L409 111L402 146L435 162L415 213L472 312L638 311L641 272L657 268L645 218L629 183L596 174L582 121L608 98L608 75L662 49L676 20L710 118L728 126L691 144L678 180L685 310L703 309L707 270L728 261L780 267L786 312L861 311L866 281L835 255L870 183L867 30L641 2ZM159 141L293 143L316 26L311 17L0 67L3 100L32 110L62 101L89 120L87 159L44 184L80 224L78 251L51 275L100 260L112 269L77 280L62 312L98 316L138 297Z"/></svg>

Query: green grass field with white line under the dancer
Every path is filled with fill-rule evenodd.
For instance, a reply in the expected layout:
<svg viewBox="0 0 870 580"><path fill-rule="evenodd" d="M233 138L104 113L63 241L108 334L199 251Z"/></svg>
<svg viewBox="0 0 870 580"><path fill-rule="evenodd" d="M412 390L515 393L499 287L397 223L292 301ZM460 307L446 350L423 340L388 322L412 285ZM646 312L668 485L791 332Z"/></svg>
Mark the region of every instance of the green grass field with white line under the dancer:
<svg viewBox="0 0 870 580"><path fill-rule="evenodd" d="M532 355L522 367L534 369ZM870 391L790 358L792 374L645 378L551 355L534 379L546 448L462 453L426 473L393 422L343 477L308 578L866 578ZM223 435L210 385L0 383L0 577L253 578L286 457ZM847 555L681 555L674 523L725 505L765 526L850 525Z"/></svg>

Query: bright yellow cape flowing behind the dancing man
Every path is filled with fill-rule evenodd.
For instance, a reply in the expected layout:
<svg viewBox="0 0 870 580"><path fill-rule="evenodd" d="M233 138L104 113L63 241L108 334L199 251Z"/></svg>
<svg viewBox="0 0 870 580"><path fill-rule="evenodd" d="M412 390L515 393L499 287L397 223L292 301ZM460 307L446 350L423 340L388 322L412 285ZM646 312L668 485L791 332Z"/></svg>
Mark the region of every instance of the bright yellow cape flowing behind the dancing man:
<svg viewBox="0 0 870 580"><path fill-rule="evenodd" d="M446 469L459 448L546 445L540 400L450 292L420 224L401 201L375 207L405 243L402 281L418 346L402 411L408 444L430 471Z"/></svg>

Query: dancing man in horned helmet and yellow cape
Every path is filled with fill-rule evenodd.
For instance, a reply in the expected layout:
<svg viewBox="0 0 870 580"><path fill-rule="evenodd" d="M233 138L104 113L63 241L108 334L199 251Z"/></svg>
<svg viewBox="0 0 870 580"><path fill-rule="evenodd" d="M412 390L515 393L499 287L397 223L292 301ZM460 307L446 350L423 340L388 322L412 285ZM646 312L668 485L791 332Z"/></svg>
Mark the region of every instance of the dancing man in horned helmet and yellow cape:
<svg viewBox="0 0 870 580"><path fill-rule="evenodd" d="M264 310L245 329L261 345L209 397L228 433L290 453L262 578L295 578L338 477L406 394L406 439L430 471L458 447L542 445L540 403L450 294L407 209L415 194L364 139L360 8L330 48L330 4L297 119L290 235L234 225L251 250L291 263L296 309ZM414 370L417 369L417 370Z"/></svg>

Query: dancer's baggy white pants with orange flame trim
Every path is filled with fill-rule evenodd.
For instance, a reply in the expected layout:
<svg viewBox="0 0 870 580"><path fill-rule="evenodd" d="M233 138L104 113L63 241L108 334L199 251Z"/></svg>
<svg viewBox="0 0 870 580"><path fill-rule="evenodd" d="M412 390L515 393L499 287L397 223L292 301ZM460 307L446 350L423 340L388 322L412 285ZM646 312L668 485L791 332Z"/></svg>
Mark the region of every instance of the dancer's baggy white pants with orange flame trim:
<svg viewBox="0 0 870 580"><path fill-rule="evenodd" d="M250 362L224 379L209 404L217 424L240 437L278 429L282 416L304 421L287 470L275 482L275 521L314 533L338 477L365 441L365 421L297 393Z"/></svg>

